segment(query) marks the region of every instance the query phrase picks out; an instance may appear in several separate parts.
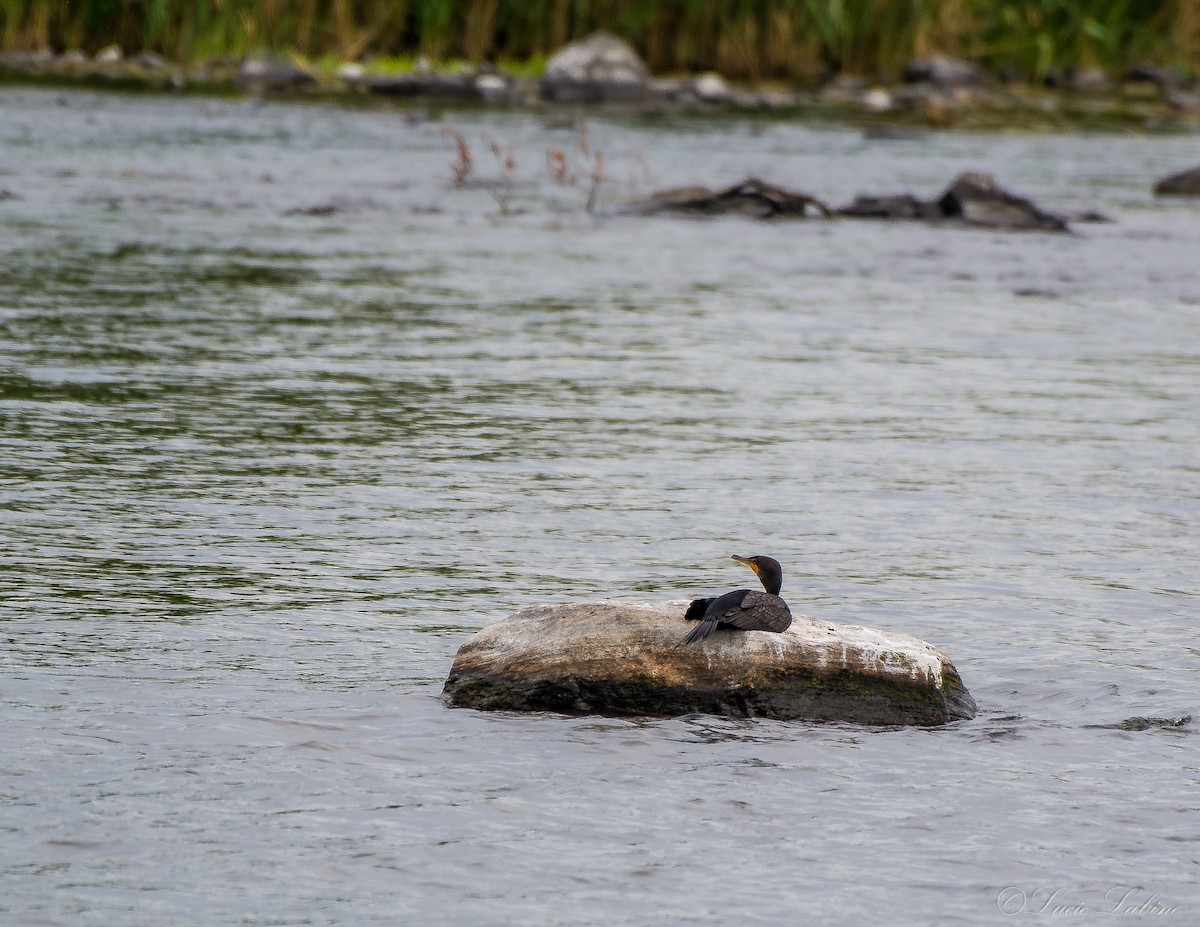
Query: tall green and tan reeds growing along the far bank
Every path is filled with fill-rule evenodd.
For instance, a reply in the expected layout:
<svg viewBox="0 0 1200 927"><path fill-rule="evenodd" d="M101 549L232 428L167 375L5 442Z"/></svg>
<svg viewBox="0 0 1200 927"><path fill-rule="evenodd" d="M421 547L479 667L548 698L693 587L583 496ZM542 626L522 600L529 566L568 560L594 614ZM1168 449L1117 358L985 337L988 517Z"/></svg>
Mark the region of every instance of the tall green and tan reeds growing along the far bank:
<svg viewBox="0 0 1200 927"><path fill-rule="evenodd" d="M1200 70L1200 0L0 0L0 48L180 61L274 49L308 58L544 59L607 29L659 73L895 78L960 55L1038 79L1154 62Z"/></svg>

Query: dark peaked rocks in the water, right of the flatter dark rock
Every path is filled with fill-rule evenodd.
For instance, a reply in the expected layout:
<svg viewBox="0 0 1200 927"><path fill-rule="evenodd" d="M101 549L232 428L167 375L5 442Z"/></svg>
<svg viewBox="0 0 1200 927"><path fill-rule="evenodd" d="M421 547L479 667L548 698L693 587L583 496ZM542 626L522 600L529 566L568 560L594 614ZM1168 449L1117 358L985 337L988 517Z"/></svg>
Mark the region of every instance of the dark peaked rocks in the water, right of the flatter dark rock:
<svg viewBox="0 0 1200 927"><path fill-rule="evenodd" d="M851 219L919 219L998 229L1068 231L1067 220L1004 190L991 174L960 174L937 199L911 193L860 196L838 215Z"/></svg>

